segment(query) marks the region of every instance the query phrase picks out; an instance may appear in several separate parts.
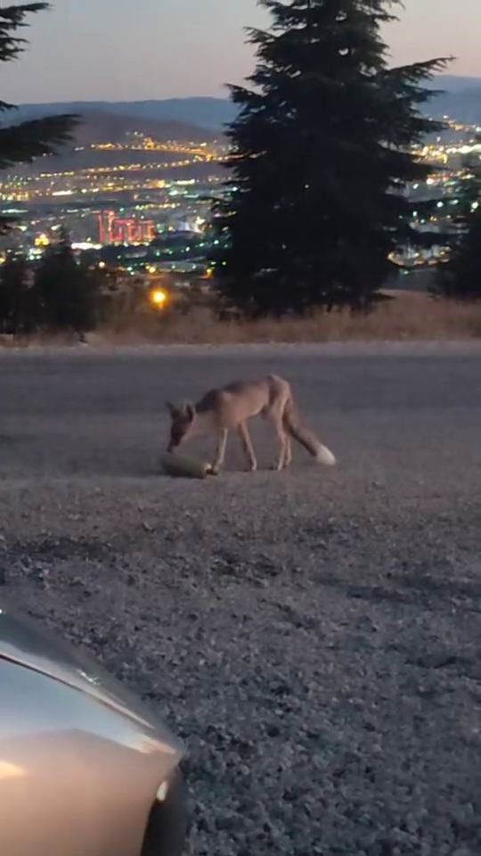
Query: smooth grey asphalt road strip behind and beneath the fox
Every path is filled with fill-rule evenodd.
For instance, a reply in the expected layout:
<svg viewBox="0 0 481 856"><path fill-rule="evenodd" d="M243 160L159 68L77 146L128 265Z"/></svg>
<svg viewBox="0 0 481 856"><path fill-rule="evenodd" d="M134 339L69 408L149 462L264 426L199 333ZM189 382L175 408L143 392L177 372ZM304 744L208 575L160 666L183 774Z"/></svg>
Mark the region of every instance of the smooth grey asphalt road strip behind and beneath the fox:
<svg viewBox="0 0 481 856"><path fill-rule="evenodd" d="M338 454L336 489L351 485L353 476L397 483L419 481L424 474L449 484L447 474L456 472L461 481L470 476L477 483L479 356L329 358L306 352L305 358L283 358L268 348L250 358L245 350L204 358L185 352L5 355L0 362L0 472L7 479L143 477L154 472L165 447L165 399L196 399L236 377L276 372L289 379L309 423ZM259 456L269 465L271 435L262 425L257 435ZM211 447L212 442L196 441L191 452ZM294 480L299 467L305 475L304 452L298 461ZM227 466L242 467L235 438ZM281 478L289 484L289 476Z"/></svg>

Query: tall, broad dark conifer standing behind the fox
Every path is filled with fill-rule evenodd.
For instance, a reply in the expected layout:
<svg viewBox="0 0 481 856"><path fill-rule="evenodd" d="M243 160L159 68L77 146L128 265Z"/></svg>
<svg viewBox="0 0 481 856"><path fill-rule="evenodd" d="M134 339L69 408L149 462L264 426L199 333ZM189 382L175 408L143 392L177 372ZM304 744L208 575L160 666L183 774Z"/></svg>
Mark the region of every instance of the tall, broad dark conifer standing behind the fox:
<svg viewBox="0 0 481 856"><path fill-rule="evenodd" d="M231 87L218 291L252 316L367 308L391 253L418 243L405 191L429 168L410 146L442 127L420 106L448 61L388 67L380 28L398 0L259 2L273 25L249 30L253 87Z"/></svg>

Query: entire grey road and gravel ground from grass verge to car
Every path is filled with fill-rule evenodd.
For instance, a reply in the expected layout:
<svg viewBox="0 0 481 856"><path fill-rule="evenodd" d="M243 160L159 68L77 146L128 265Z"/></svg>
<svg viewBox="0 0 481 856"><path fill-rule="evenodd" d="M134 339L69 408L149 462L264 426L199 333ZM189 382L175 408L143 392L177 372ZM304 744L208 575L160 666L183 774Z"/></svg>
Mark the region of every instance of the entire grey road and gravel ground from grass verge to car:
<svg viewBox="0 0 481 856"><path fill-rule="evenodd" d="M336 470L156 473L164 398L273 370ZM186 739L192 854L479 856L479 351L9 353L0 395L0 592Z"/></svg>

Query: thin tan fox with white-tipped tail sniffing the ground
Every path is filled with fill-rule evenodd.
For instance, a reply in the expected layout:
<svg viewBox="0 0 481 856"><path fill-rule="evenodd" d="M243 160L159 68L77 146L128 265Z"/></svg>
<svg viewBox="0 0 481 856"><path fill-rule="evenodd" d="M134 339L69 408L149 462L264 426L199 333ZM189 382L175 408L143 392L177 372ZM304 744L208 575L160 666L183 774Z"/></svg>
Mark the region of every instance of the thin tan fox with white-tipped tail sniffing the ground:
<svg viewBox="0 0 481 856"><path fill-rule="evenodd" d="M248 419L265 416L273 421L279 440L279 456L275 469L281 470L292 461L291 438L298 440L315 459L334 465L335 457L329 449L303 424L294 404L290 385L282 377L270 374L259 381L229 383L221 390L209 391L194 406L176 407L167 404L172 424L168 450L172 451L199 433L216 433L217 449L214 468L224 464L229 431L237 431L249 462L249 469L257 469L257 459L248 429Z"/></svg>

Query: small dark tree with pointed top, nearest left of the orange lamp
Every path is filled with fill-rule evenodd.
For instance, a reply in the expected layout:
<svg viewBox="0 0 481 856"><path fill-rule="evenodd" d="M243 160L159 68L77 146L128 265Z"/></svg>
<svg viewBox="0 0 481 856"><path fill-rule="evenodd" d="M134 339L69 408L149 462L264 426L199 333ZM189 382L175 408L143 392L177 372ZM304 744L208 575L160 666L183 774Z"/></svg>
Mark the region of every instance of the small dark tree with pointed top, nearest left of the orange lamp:
<svg viewBox="0 0 481 856"><path fill-rule="evenodd" d="M40 260L34 290L47 329L84 333L95 326L99 279L95 271L77 265L65 232Z"/></svg>

